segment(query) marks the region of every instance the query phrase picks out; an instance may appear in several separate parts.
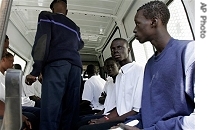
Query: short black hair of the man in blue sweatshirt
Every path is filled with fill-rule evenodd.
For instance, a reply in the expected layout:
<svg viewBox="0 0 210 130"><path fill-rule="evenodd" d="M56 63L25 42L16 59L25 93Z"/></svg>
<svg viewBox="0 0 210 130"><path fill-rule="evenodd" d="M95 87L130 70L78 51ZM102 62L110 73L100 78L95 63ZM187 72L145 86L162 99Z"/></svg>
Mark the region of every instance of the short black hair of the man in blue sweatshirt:
<svg viewBox="0 0 210 130"><path fill-rule="evenodd" d="M143 6L141 6L139 10L143 10L143 15L147 19L159 18L161 19L163 25L166 25L170 19L170 12L167 5L162 1L150 1Z"/></svg>

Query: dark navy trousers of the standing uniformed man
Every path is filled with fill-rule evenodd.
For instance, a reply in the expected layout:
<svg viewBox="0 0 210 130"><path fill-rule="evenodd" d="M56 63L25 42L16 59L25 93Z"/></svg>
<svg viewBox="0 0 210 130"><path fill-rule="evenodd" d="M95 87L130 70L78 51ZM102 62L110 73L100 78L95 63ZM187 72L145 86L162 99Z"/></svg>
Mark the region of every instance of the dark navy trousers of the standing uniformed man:
<svg viewBox="0 0 210 130"><path fill-rule="evenodd" d="M81 68L66 60L44 68L40 130L70 130L79 117Z"/></svg>

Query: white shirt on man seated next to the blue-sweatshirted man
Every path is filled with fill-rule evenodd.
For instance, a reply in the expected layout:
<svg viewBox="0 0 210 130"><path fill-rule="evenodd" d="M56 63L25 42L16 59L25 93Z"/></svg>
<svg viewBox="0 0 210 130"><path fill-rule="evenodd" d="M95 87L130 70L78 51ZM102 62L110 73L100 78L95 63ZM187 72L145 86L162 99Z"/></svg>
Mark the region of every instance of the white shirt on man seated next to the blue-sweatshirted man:
<svg viewBox="0 0 210 130"><path fill-rule="evenodd" d="M116 77L116 106L119 116L141 107L144 69L136 62L121 67Z"/></svg>

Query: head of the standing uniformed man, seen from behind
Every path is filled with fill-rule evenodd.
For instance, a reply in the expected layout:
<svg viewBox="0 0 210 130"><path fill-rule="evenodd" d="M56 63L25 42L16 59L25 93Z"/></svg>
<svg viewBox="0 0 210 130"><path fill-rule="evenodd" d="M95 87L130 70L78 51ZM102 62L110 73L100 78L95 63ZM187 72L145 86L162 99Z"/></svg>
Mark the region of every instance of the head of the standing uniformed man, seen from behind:
<svg viewBox="0 0 210 130"><path fill-rule="evenodd" d="M51 4L51 10L53 13L62 13L67 15L67 3L63 0L54 0Z"/></svg>

